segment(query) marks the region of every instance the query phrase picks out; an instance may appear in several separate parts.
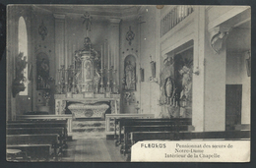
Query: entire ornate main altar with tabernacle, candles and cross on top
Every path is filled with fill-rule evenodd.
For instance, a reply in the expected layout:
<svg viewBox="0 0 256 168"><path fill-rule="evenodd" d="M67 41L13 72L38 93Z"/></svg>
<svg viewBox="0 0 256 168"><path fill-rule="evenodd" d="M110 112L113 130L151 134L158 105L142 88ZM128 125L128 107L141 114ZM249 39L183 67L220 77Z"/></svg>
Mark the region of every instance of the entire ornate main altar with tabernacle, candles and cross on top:
<svg viewBox="0 0 256 168"><path fill-rule="evenodd" d="M70 65L65 62L57 70L55 114L71 112L73 118L103 119L106 112L120 113L118 48L113 40L104 39L97 51L88 36L93 18L87 13L84 19L87 26L84 47L70 56Z"/></svg>

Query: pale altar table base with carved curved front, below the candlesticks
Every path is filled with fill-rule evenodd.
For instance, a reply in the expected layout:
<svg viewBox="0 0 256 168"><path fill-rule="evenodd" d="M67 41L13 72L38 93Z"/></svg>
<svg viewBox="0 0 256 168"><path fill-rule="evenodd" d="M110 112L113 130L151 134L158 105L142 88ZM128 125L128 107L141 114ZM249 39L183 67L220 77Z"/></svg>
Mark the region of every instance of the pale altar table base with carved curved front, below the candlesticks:
<svg viewBox="0 0 256 168"><path fill-rule="evenodd" d="M67 109L73 118L104 118L107 109L110 114L120 113L120 94L55 94L54 98L56 115L66 114Z"/></svg>

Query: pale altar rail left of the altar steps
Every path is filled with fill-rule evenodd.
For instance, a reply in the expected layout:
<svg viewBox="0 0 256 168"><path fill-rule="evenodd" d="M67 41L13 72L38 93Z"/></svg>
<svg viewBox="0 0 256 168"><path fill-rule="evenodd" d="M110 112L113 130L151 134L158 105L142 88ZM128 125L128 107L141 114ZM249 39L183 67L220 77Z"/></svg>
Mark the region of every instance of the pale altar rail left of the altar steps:
<svg viewBox="0 0 256 168"><path fill-rule="evenodd" d="M17 120L68 120L68 133L72 132L72 114L64 115L18 115Z"/></svg>

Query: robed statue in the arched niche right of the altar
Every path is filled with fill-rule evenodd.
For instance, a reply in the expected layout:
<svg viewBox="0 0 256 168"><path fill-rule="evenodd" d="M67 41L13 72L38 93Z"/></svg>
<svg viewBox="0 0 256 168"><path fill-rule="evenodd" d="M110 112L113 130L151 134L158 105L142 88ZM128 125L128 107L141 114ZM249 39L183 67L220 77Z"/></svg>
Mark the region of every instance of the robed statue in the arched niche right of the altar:
<svg viewBox="0 0 256 168"><path fill-rule="evenodd" d="M135 67L130 61L126 62L125 66L125 89L135 89Z"/></svg>

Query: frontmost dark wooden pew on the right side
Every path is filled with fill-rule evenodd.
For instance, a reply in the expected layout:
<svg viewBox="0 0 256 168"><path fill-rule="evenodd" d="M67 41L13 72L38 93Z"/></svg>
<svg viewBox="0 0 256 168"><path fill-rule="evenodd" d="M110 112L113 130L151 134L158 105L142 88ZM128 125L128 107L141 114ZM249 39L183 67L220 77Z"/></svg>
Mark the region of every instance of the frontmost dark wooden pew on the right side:
<svg viewBox="0 0 256 168"><path fill-rule="evenodd" d="M116 119L115 121L115 139L116 136L116 124L119 125L118 140L115 140L115 145L121 143L121 131L123 126L151 126L151 125L191 125L191 118L172 118L172 119Z"/></svg>

